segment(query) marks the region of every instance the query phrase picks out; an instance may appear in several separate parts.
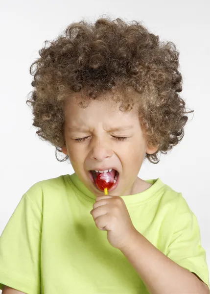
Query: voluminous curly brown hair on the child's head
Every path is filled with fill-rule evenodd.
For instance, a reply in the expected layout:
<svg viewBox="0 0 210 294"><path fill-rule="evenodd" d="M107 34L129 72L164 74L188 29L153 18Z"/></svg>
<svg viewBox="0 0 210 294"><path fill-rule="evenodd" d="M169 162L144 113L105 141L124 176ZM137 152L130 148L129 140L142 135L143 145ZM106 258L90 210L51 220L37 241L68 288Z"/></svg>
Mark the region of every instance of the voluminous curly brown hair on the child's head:
<svg viewBox="0 0 210 294"><path fill-rule="evenodd" d="M81 107L114 90L127 93L120 96L122 111L139 103L147 144L158 147L154 154L145 155L152 163L182 140L186 114L193 111L186 111L179 96L179 52L174 43L161 42L140 22L100 18L91 24L83 19L67 26L53 41L45 41L39 54L30 66L34 91L26 103L32 105L36 133L56 151L65 145L64 101L76 92L81 93Z"/></svg>

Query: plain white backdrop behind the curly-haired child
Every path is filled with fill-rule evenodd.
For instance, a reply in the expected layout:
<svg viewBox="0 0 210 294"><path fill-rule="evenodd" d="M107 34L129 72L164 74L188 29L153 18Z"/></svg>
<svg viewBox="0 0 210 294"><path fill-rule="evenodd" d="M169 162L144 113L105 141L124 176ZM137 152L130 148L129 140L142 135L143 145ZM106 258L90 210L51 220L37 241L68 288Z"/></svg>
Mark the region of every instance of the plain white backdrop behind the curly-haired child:
<svg viewBox="0 0 210 294"><path fill-rule="evenodd" d="M160 177L182 192L197 217L210 267L210 2L209 0L1 0L0 2L0 234L22 195L34 183L72 173L55 147L39 139L25 101L32 90L31 63L45 40L67 25L101 16L141 21L180 51L181 97L194 118L183 141L159 164L147 161L139 176ZM191 119L189 117L189 119ZM61 157L62 158L62 157Z"/></svg>

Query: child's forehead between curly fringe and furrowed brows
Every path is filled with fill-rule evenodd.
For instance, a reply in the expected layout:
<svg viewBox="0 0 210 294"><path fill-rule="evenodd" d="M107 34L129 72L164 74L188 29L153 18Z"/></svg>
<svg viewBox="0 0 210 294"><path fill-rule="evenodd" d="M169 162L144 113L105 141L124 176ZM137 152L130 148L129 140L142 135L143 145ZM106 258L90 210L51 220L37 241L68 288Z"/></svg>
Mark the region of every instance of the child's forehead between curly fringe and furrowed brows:
<svg viewBox="0 0 210 294"><path fill-rule="evenodd" d="M65 123L70 126L88 125L93 127L95 123L110 125L126 125L139 122L137 107L129 111L120 111L120 104L110 98L90 100L87 107L79 105L78 96L71 97L64 107Z"/></svg>

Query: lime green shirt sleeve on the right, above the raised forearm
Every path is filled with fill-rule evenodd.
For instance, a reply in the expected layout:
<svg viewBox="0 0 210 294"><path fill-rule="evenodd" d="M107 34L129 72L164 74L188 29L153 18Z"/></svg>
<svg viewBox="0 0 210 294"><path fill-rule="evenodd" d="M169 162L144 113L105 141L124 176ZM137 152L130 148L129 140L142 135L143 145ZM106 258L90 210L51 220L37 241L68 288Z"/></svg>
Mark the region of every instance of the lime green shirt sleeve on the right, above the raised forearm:
<svg viewBox="0 0 210 294"><path fill-rule="evenodd" d="M181 194L174 221L174 232L166 256L195 273L210 288L206 251L201 246L198 221Z"/></svg>

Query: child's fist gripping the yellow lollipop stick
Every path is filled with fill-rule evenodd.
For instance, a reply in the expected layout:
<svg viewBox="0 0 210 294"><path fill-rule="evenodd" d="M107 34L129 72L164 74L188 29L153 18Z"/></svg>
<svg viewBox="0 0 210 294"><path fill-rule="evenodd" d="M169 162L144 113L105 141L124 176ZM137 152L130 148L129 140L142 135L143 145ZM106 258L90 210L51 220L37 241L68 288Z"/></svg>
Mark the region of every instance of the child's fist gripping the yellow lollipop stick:
<svg viewBox="0 0 210 294"><path fill-rule="evenodd" d="M97 196L91 215L99 230L107 230L109 243L120 250L128 246L139 233L131 221L125 202L119 196Z"/></svg>

